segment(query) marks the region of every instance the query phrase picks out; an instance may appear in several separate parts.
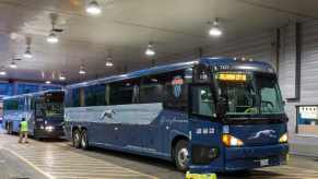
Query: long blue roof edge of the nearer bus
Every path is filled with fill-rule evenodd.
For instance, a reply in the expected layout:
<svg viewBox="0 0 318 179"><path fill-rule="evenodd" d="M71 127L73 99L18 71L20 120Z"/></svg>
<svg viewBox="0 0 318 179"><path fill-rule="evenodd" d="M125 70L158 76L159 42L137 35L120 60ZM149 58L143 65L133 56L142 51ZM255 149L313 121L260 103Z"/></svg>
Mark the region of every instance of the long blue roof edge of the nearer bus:
<svg viewBox="0 0 318 179"><path fill-rule="evenodd" d="M71 84L71 85L66 86L66 88L84 87L84 86L90 86L90 85L95 85L95 84L103 84L103 83L110 83L110 82L116 82L116 81L121 81L121 80L134 79L134 77L144 76L144 75L153 75L153 74L160 74L160 73L165 73L165 72L172 72L172 71L188 69L199 63L207 64L207 65L238 64L240 67L256 67L260 71L268 71L269 69L272 70L271 64L267 62L262 62L262 61L250 61L250 60L243 61L243 60L236 60L235 58L228 58L228 57L211 57L211 58L207 57L207 58L201 58L195 61L156 65L150 69L133 71L126 74L111 75L111 76L106 76L103 79Z"/></svg>

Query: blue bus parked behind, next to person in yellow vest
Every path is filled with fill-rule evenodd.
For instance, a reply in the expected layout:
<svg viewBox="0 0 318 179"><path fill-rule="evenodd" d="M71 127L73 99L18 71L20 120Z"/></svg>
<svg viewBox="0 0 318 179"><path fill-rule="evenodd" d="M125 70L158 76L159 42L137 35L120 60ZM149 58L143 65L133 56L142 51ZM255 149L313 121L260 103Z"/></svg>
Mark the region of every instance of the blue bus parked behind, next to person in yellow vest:
<svg viewBox="0 0 318 179"><path fill-rule="evenodd" d="M17 133L22 118L28 121L28 133L35 139L63 135L63 98L61 90L50 90L3 98L2 126Z"/></svg>

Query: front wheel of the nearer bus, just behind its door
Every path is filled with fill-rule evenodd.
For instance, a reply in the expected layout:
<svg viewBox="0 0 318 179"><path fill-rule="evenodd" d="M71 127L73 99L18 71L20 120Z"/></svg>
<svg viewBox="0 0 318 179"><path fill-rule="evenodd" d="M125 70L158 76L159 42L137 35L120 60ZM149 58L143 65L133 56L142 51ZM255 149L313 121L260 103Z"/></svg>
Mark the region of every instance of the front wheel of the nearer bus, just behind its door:
<svg viewBox="0 0 318 179"><path fill-rule="evenodd" d="M188 150L188 141L180 140L175 148L174 148L174 159L176 167L181 170L186 171L189 167L189 150Z"/></svg>

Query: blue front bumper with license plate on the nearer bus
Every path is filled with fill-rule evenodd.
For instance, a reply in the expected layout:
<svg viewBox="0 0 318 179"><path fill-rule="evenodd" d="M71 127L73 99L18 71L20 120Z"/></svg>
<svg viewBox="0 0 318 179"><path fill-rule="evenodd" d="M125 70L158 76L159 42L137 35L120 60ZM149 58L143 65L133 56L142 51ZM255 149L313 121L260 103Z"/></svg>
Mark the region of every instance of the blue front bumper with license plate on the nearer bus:
<svg viewBox="0 0 318 179"><path fill-rule="evenodd" d="M225 171L270 167L286 164L288 144L251 147L226 147Z"/></svg>

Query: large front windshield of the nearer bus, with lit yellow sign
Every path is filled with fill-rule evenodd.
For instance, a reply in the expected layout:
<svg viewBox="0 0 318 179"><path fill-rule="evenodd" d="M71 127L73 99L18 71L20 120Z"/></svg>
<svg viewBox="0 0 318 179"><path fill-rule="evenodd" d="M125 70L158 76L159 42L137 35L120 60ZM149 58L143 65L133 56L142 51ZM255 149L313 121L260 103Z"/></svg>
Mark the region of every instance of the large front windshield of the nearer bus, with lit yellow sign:
<svg viewBox="0 0 318 179"><path fill-rule="evenodd" d="M219 94L227 115L282 114L282 98L273 74L217 73Z"/></svg>

